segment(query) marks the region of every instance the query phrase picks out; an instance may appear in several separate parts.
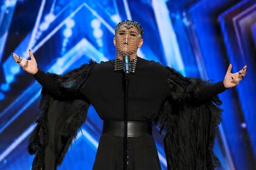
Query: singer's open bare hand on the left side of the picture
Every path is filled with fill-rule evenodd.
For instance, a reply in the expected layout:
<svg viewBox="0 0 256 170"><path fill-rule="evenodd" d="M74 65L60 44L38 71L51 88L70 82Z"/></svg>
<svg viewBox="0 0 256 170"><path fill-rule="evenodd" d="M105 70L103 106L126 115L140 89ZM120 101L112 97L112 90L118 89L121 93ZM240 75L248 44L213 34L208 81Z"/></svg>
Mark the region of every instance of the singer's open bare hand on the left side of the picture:
<svg viewBox="0 0 256 170"><path fill-rule="evenodd" d="M31 60L26 60L24 58L21 58L20 56L16 55L16 53L13 53L12 56L15 62L18 63L23 68L23 70L25 70L26 72L32 75L37 73L38 71L37 61L35 61L35 57L30 50L29 50L29 56Z"/></svg>

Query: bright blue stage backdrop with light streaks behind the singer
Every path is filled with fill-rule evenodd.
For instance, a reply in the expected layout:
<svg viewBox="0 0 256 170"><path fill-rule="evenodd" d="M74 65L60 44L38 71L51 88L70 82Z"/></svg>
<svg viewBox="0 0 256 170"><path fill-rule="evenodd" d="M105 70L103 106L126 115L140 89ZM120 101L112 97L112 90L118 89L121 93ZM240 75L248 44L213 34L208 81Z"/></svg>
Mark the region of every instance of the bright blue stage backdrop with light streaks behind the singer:
<svg viewBox="0 0 256 170"><path fill-rule="evenodd" d="M219 95L222 123L215 143L218 169L256 169L256 2L232 0L0 0L0 169L30 169L26 151L38 117L40 84L13 62L12 52L34 52L40 69L54 73L115 58L115 25L143 25L138 55L187 77L221 81L248 65L238 87ZM76 143L59 169L92 169L102 120L90 107ZM162 137L154 128L162 169Z"/></svg>

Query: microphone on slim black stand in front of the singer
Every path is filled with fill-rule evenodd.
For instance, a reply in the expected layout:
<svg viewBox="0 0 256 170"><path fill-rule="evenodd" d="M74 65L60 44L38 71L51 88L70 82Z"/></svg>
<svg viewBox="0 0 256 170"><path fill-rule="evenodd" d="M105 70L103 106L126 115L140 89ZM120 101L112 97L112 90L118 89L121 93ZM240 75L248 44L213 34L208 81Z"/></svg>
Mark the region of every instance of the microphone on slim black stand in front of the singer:
<svg viewBox="0 0 256 170"><path fill-rule="evenodd" d="M123 56L124 62L124 80L126 81L125 99L124 99L124 169L127 170L127 118L128 118L128 83L130 73L130 57L129 55Z"/></svg>

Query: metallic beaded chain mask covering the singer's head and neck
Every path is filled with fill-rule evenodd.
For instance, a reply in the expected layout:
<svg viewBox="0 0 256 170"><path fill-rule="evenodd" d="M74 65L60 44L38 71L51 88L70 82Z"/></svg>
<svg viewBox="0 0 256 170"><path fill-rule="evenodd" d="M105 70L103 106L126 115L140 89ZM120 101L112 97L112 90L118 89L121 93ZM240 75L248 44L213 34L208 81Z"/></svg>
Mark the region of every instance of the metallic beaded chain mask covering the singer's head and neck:
<svg viewBox="0 0 256 170"><path fill-rule="evenodd" d="M116 25L115 29L115 71L123 70L123 56L129 55L130 58L130 72L135 72L137 63L137 49L140 44L140 39L143 36L143 29L138 22L135 21L121 21Z"/></svg>

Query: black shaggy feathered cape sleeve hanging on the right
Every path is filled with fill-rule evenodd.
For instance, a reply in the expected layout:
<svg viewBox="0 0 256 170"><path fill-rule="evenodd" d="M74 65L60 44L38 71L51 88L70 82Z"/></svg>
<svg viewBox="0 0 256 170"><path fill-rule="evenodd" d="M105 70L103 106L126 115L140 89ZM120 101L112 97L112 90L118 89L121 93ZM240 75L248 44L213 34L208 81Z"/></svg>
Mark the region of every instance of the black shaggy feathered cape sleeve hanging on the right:
<svg viewBox="0 0 256 170"><path fill-rule="evenodd" d="M220 165L213 146L222 112L216 95L226 88L167 69L170 97L156 123L165 135L168 169L214 169Z"/></svg>

